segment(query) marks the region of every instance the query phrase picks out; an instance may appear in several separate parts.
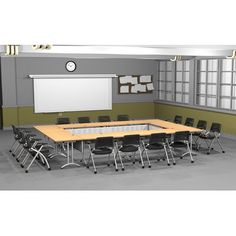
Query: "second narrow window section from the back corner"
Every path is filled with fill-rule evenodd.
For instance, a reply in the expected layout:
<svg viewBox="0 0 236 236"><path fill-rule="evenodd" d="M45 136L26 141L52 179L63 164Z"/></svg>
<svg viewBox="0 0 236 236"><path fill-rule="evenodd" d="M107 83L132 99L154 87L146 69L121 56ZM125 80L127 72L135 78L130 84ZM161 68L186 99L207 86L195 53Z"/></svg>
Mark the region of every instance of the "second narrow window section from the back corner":
<svg viewBox="0 0 236 236"><path fill-rule="evenodd" d="M175 101L189 103L189 61L176 62Z"/></svg>

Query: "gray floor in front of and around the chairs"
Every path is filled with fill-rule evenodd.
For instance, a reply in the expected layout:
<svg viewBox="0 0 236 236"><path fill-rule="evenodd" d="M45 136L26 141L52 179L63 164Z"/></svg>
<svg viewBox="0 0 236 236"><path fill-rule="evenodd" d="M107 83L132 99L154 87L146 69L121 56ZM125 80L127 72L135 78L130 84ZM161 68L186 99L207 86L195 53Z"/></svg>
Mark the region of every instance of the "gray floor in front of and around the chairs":
<svg viewBox="0 0 236 236"><path fill-rule="evenodd" d="M191 164L189 158L177 160L176 166L152 160L152 168L141 169L139 164L127 163L125 171L115 172L112 167L99 165L98 173L92 168L68 167L63 157L50 161L52 170L35 163L30 173L24 173L19 163L8 152L13 142L11 131L0 131L0 189L2 190L235 190L235 140L222 139L226 153L203 152ZM80 154L76 152L77 160ZM99 162L99 160L98 160Z"/></svg>

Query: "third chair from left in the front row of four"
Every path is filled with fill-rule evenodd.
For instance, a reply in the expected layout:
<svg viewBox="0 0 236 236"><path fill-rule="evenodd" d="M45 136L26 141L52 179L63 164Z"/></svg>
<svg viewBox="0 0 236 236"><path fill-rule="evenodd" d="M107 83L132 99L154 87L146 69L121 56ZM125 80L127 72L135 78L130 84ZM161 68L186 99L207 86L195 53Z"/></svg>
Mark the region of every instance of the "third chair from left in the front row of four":
<svg viewBox="0 0 236 236"><path fill-rule="evenodd" d="M169 161L169 156L167 153L167 147L169 147L169 143L167 142L167 136L165 133L159 133L159 134L151 134L148 143L144 143L144 141L142 141L143 143L143 151L142 154L145 152L147 159L149 161L148 158L148 151L158 151L158 150L164 150L165 151L165 156L166 156L166 160L167 160L167 165L170 165L170 161ZM171 157L173 160L173 164L175 165L175 158L171 152ZM164 159L163 159L164 160ZM159 161L159 159L158 159ZM150 164L150 162L149 162ZM150 167L150 166L149 166Z"/></svg>

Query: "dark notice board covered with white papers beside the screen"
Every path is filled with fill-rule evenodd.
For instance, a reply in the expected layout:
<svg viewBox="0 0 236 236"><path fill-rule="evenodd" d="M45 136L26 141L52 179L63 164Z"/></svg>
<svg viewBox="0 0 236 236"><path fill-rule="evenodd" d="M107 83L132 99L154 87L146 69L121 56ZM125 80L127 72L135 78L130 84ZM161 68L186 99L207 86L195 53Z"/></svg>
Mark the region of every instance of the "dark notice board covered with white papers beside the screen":
<svg viewBox="0 0 236 236"><path fill-rule="evenodd" d="M154 90L152 75L118 76L119 94L152 93Z"/></svg>

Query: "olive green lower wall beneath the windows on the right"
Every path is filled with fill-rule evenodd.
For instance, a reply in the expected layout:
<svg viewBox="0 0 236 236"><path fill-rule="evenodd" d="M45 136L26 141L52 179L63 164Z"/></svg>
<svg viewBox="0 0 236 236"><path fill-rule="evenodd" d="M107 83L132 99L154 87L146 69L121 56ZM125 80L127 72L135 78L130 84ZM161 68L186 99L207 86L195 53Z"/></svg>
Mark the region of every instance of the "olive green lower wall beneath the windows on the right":
<svg viewBox="0 0 236 236"><path fill-rule="evenodd" d="M236 135L236 115L188 108L178 105L155 103L156 118L172 121L175 115L183 116L184 120L186 117L194 118L194 125L196 125L197 121L200 119L206 120L208 129L210 128L212 122L218 122L222 124L222 133Z"/></svg>

